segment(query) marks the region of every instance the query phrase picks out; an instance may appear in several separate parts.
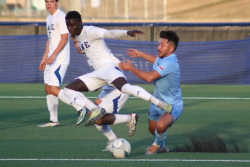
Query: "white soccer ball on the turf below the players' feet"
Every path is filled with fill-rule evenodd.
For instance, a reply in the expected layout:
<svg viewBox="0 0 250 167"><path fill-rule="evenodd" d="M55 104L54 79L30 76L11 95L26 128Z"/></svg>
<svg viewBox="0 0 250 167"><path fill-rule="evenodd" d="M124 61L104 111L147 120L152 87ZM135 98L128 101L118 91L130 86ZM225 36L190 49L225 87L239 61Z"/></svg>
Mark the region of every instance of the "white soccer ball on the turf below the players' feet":
<svg viewBox="0 0 250 167"><path fill-rule="evenodd" d="M114 158L128 158L131 151L130 143L123 138L112 142L110 153Z"/></svg>

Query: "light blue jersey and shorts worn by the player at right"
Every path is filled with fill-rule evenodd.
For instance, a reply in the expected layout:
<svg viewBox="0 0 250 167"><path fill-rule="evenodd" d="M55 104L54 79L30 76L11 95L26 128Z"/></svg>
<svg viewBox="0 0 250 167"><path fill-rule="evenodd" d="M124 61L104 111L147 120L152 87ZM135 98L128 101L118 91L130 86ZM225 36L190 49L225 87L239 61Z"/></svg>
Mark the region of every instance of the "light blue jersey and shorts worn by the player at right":
<svg viewBox="0 0 250 167"><path fill-rule="evenodd" d="M168 57L157 57L153 69L161 78L154 80L154 96L162 101L172 104L172 115L176 121L183 112L182 92L180 88L180 68L176 54ZM151 104L149 119L157 121L165 111Z"/></svg>

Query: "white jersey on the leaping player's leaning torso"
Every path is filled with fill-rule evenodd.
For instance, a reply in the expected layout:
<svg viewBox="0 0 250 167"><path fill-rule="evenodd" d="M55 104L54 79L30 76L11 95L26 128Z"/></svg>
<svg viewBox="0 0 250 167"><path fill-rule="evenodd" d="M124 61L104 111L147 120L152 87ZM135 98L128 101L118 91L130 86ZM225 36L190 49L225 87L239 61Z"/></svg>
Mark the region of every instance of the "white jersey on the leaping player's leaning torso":
<svg viewBox="0 0 250 167"><path fill-rule="evenodd" d="M81 34L77 37L79 46L93 69L105 64L120 62L114 57L104 41L104 33L108 31L94 26L83 26Z"/></svg>

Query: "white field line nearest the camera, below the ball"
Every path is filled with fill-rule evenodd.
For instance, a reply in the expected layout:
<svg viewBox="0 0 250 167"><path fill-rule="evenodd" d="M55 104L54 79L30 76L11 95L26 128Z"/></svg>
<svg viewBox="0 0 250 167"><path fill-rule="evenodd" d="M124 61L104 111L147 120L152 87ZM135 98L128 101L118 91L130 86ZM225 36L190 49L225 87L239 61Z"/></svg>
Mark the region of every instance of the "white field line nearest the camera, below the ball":
<svg viewBox="0 0 250 167"><path fill-rule="evenodd" d="M220 160L220 159L0 159L0 161L126 161L126 162L244 162L250 163L250 160Z"/></svg>

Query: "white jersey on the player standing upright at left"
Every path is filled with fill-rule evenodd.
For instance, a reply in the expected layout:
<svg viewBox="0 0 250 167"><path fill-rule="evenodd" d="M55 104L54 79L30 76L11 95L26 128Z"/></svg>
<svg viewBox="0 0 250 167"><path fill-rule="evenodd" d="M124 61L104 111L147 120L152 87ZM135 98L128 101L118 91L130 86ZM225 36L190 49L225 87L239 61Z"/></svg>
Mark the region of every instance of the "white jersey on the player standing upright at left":
<svg viewBox="0 0 250 167"><path fill-rule="evenodd" d="M65 13L60 9L53 15L49 15L46 19L47 27L47 36L49 39L49 54L48 57L55 51L60 40L61 34L69 33L66 22L65 22ZM69 40L66 43L65 47L58 53L55 58L55 64L69 64L70 61L70 48Z"/></svg>

